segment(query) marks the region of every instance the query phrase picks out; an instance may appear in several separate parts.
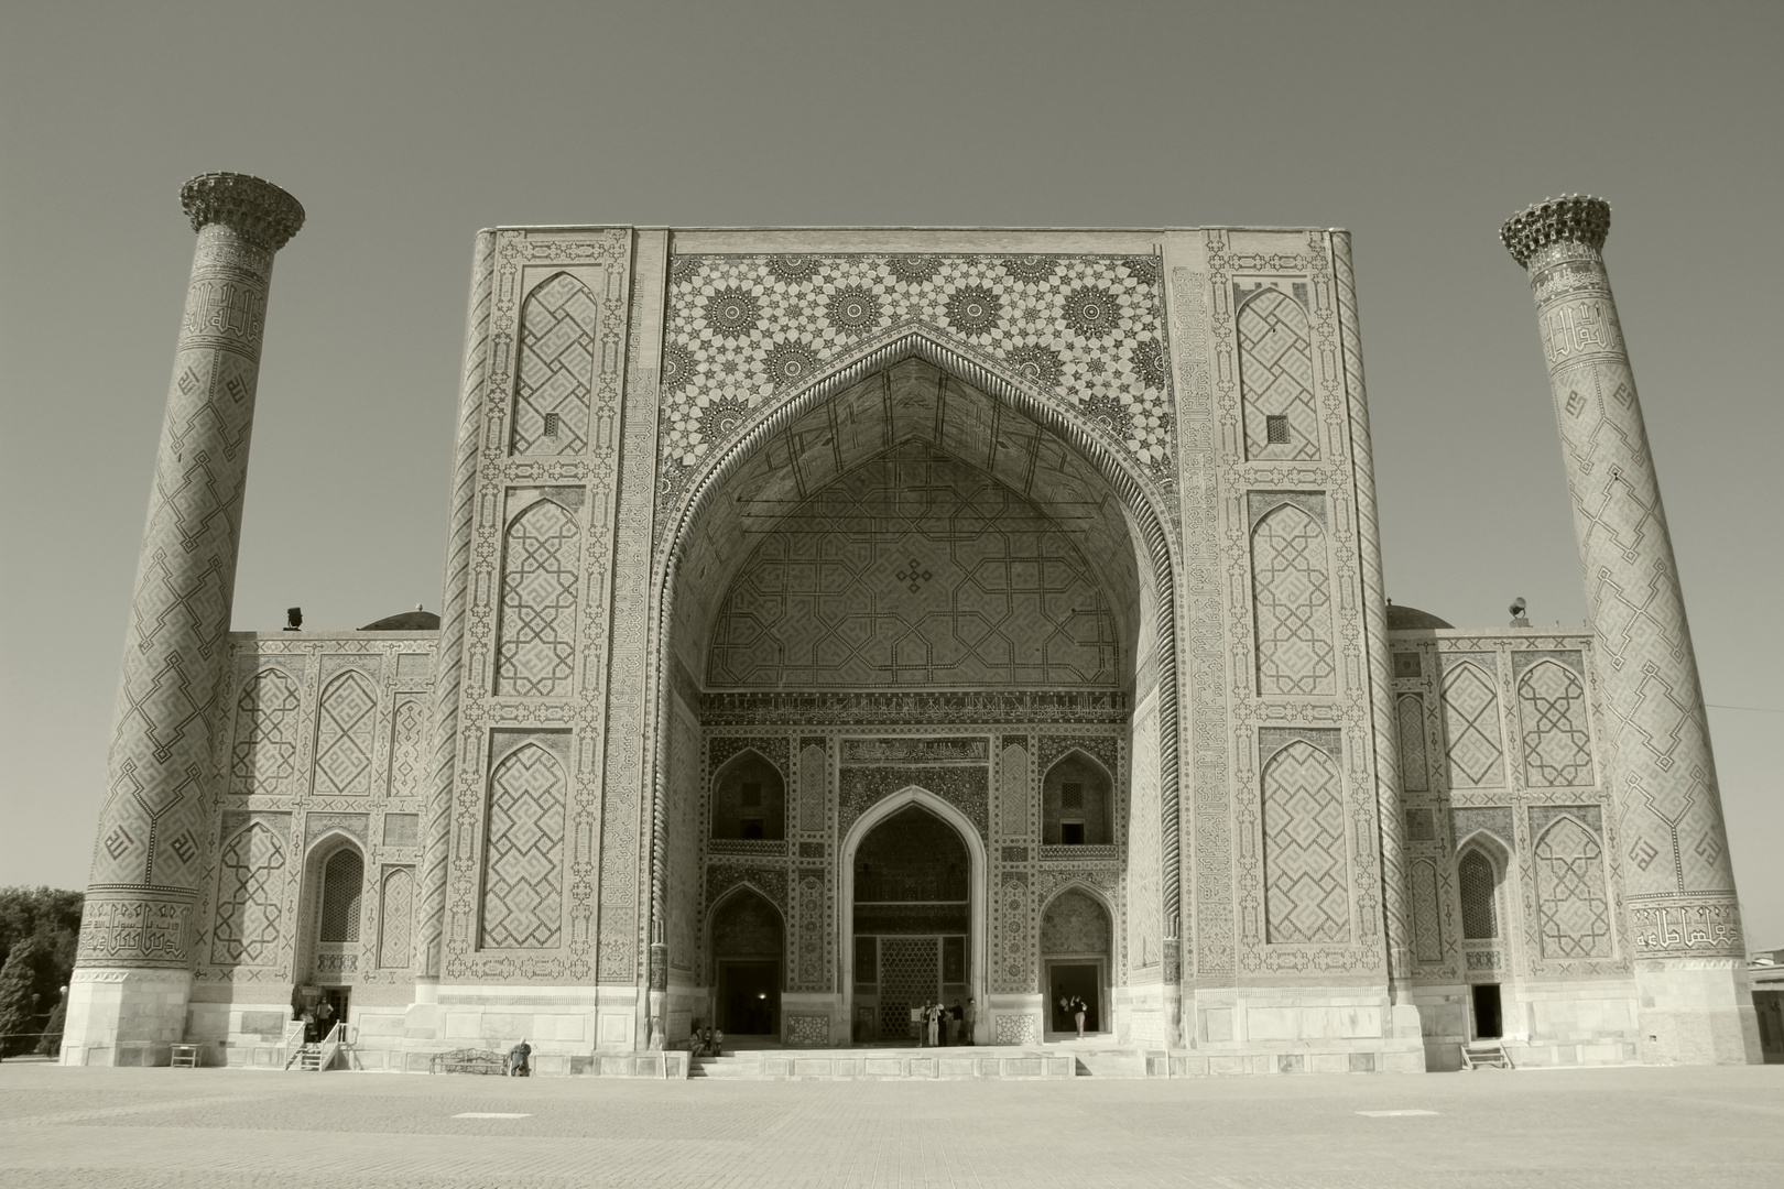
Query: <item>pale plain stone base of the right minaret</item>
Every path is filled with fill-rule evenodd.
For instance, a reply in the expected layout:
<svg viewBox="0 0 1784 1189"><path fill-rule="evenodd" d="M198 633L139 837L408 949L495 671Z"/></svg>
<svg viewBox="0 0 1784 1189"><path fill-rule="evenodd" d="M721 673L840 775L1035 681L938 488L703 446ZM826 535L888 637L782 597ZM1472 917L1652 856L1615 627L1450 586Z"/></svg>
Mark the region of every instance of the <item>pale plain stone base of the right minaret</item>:
<svg viewBox="0 0 1784 1189"><path fill-rule="evenodd" d="M1636 961L1636 1052L1645 1064L1763 1064L1759 1016L1738 957Z"/></svg>

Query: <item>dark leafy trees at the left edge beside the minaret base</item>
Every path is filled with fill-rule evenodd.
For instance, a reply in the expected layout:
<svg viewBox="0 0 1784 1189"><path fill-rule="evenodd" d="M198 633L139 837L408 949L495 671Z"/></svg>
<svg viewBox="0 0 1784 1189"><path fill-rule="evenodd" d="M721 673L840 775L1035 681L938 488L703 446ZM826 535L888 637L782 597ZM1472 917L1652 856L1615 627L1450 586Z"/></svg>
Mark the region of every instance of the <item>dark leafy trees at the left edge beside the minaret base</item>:
<svg viewBox="0 0 1784 1189"><path fill-rule="evenodd" d="M61 1037L61 988L75 970L80 936L78 891L0 888L0 1055L54 1054ZM25 1034L25 1036L21 1036Z"/></svg>

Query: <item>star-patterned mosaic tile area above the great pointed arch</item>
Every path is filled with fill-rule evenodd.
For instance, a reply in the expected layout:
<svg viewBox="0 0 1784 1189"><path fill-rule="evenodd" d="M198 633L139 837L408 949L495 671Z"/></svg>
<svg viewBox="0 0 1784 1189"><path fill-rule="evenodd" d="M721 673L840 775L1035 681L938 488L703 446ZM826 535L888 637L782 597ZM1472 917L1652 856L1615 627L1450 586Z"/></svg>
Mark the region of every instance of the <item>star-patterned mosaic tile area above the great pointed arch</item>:
<svg viewBox="0 0 1784 1189"><path fill-rule="evenodd" d="M664 342L664 494L780 392L924 324L1076 410L1149 469L1174 440L1154 257L676 257Z"/></svg>

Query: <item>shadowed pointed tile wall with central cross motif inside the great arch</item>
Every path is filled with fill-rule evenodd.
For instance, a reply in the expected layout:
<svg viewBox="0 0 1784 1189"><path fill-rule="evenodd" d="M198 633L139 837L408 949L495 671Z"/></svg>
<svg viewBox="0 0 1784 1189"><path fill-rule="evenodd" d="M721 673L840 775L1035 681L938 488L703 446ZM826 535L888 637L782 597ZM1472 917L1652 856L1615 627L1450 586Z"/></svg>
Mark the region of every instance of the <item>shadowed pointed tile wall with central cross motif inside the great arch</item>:
<svg viewBox="0 0 1784 1189"><path fill-rule="evenodd" d="M1115 620L1070 537L906 440L764 533L726 595L714 686L1110 686Z"/></svg>

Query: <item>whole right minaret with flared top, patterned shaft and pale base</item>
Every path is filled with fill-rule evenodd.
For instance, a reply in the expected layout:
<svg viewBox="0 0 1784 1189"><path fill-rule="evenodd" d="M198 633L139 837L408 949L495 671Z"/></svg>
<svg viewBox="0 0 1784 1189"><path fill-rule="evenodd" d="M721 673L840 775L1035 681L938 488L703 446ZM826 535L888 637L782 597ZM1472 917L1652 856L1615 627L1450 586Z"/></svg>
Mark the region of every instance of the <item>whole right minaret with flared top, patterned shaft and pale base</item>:
<svg viewBox="0 0 1784 1189"><path fill-rule="evenodd" d="M1611 205L1538 203L1500 230L1531 275L1586 579L1645 1061L1757 1062L1734 868L1672 535L1604 237Z"/></svg>

